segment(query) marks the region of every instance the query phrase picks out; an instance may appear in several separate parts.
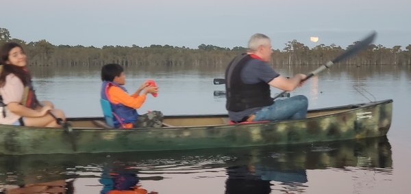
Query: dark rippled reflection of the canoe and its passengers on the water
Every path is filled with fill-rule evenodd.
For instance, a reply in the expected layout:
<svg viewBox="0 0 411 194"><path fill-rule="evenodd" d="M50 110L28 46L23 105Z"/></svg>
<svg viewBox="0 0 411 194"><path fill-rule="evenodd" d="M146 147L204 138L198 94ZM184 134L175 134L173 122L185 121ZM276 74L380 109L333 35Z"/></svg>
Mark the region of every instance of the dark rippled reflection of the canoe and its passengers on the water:
<svg viewBox="0 0 411 194"><path fill-rule="evenodd" d="M82 178L97 178L99 192L137 185L142 191L175 193L166 186L167 180L196 174L201 178L202 174L219 174L223 169L225 193L299 193L310 188L308 170L372 171L369 176L382 174L384 180L390 180L393 170L390 148L388 139L379 137L299 146L185 152L0 156L0 184L4 187L6 184L28 185L75 178L77 184L86 186L88 183L81 183ZM355 181L363 179L370 181L370 178L358 176ZM149 188L147 181L154 181L155 186ZM190 187L191 181L195 180L186 180L184 185ZM203 182L206 184L207 179Z"/></svg>

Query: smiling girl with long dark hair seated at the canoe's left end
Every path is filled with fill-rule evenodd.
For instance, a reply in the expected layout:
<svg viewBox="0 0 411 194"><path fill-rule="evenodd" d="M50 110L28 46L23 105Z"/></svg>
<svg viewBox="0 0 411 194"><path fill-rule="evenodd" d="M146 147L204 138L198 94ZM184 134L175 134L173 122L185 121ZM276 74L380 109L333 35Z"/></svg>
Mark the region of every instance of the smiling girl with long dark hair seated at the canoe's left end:
<svg viewBox="0 0 411 194"><path fill-rule="evenodd" d="M26 69L27 57L23 48L15 42L0 48L0 124L16 126L60 126L48 113L51 111L63 121L63 111L54 109L50 101L36 98L32 76Z"/></svg>

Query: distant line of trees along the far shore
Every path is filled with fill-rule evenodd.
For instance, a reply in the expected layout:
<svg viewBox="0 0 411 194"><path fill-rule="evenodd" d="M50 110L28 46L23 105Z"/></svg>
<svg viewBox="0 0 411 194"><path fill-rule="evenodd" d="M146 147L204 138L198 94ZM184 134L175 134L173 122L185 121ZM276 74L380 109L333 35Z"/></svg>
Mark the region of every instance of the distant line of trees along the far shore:
<svg viewBox="0 0 411 194"><path fill-rule="evenodd" d="M8 29L0 28L0 46L10 41L18 42L23 46L29 66L103 66L108 63L122 66L226 66L236 55L247 51L247 48L242 46L226 48L211 44L200 44L197 48L168 44L164 46L151 44L145 47L135 44L131 47L110 45L97 48L82 45L53 45L47 40L27 43L12 38ZM324 64L347 48L341 48L336 44L319 44L310 49L297 40L291 40L284 44L282 51L273 50L271 64L290 66ZM342 63L357 66L409 66L411 44L406 46L406 50L401 49L401 46L387 48L381 44L371 44L368 49Z"/></svg>

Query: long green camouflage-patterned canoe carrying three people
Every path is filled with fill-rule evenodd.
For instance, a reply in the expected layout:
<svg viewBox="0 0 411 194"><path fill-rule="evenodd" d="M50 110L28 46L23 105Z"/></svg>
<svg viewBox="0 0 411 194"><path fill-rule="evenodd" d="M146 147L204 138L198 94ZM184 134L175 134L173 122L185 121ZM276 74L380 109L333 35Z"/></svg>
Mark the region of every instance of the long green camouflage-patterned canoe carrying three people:
<svg viewBox="0 0 411 194"><path fill-rule="evenodd" d="M163 128L105 128L103 117L68 118L60 128L0 125L0 154L75 154L236 148L386 135L393 100L312 109L303 120L227 124L226 114L168 115Z"/></svg>

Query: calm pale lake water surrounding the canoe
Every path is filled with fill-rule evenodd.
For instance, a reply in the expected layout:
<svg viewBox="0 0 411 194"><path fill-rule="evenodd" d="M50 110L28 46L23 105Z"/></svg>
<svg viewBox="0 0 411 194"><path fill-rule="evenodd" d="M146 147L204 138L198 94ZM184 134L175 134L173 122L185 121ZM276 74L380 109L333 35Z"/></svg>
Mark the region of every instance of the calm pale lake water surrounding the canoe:
<svg viewBox="0 0 411 194"><path fill-rule="evenodd" d="M284 76L316 66L277 67ZM101 116L99 68L32 70L38 98L68 117ZM226 113L223 68L127 68L134 92L153 79L158 97L140 109L165 115ZM272 94L281 92L272 89ZM290 92L306 95L309 109L394 100L387 137L306 146L51 156L0 156L0 185L65 180L68 193L100 193L107 173L136 174L158 193L409 193L411 174L410 66L333 66ZM129 176L129 178L132 176ZM64 184L63 184L64 186ZM0 186L1 187L1 186Z"/></svg>

